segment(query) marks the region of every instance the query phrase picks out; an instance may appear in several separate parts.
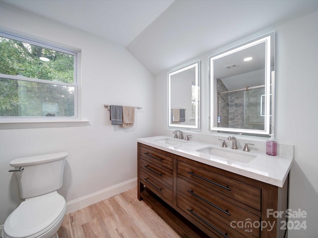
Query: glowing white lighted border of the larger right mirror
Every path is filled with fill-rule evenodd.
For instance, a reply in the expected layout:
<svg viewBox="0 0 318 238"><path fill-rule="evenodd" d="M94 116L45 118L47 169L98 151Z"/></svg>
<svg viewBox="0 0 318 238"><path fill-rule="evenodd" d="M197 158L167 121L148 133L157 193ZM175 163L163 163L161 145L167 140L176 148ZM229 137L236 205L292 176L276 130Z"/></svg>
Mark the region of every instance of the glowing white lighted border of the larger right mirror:
<svg viewBox="0 0 318 238"><path fill-rule="evenodd" d="M273 49L271 49L271 40L273 41ZM213 60L220 59L221 57L231 55L235 52L238 52L243 49L247 49L248 47L257 45L259 43L265 42L265 52L266 52L266 58L265 58L265 108L266 108L266 114L265 114L265 120L264 120L264 130L254 130L254 129L236 129L236 128L226 128L226 127L215 127L214 124L217 123L217 118L215 115L218 115L218 113L215 111L214 102L215 99L213 95L211 94L213 91L214 85L214 68L213 68ZM274 59L274 68L271 69L271 52L273 52L273 59ZM268 66L269 65L269 66ZM235 47L230 47L228 50L223 50L217 54L214 54L210 57L208 57L208 70L209 70L209 130L211 132L238 132L238 133L249 133L249 134L273 134L274 133L274 99L275 99L275 31L268 32L266 34L263 34L259 37L253 38L251 40L248 40L244 43L238 44ZM272 82L271 82L272 81ZM271 84L273 85L271 87ZM272 94L272 118L270 118L269 112L270 112L270 97L267 95Z"/></svg>

